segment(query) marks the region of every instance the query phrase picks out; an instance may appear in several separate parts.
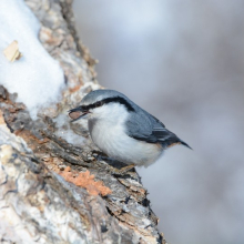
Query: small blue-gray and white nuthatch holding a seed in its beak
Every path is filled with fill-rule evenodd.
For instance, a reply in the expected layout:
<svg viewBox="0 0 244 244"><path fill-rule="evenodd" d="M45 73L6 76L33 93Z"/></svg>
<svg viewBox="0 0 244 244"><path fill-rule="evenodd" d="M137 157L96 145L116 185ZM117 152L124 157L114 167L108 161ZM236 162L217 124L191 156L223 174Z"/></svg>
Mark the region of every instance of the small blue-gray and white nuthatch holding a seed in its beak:
<svg viewBox="0 0 244 244"><path fill-rule="evenodd" d="M110 159L126 164L121 173L151 165L173 145L191 149L160 120L115 90L91 91L69 111L69 116L72 122L88 118L93 143Z"/></svg>

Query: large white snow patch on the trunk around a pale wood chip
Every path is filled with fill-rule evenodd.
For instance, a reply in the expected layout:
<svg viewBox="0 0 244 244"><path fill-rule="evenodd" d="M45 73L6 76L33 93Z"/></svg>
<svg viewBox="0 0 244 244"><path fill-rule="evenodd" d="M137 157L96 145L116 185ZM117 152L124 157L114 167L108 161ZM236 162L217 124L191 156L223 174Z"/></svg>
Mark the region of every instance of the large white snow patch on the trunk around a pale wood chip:
<svg viewBox="0 0 244 244"><path fill-rule="evenodd" d="M23 0L0 1L0 84L17 92L17 101L23 102L37 119L40 108L61 96L63 71L40 43L40 23ZM3 50L13 40L19 42L23 57L11 63Z"/></svg>

